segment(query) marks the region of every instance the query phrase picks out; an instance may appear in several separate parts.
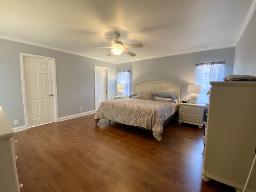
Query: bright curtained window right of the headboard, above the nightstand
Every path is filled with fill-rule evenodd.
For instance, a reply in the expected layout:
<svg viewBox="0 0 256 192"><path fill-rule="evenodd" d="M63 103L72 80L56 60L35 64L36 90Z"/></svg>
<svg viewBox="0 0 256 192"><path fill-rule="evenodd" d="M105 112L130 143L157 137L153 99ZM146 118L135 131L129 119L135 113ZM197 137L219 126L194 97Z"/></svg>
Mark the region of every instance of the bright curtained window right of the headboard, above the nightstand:
<svg viewBox="0 0 256 192"><path fill-rule="evenodd" d="M195 85L201 85L201 93L198 95L197 103L208 103L210 81L223 81L225 61L213 63L200 63L195 68Z"/></svg>

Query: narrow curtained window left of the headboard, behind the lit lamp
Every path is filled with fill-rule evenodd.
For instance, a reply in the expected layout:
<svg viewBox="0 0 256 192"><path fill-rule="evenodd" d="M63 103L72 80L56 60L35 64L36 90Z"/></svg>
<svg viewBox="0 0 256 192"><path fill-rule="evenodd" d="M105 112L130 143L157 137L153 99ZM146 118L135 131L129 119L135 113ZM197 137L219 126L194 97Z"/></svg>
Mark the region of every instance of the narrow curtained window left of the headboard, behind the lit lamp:
<svg viewBox="0 0 256 192"><path fill-rule="evenodd" d="M130 70L117 73L117 84L123 84L122 96L130 96Z"/></svg>

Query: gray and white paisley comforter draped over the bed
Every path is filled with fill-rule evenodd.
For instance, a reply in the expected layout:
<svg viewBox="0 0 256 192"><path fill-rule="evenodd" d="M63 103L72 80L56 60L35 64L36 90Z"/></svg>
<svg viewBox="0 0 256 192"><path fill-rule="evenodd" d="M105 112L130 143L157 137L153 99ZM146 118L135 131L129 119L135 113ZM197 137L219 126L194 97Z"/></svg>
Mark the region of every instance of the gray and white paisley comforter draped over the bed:
<svg viewBox="0 0 256 192"><path fill-rule="evenodd" d="M100 103L94 120L107 119L130 126L143 127L153 131L154 137L160 141L163 122L178 109L178 103L157 100L141 100L134 98L105 101Z"/></svg>

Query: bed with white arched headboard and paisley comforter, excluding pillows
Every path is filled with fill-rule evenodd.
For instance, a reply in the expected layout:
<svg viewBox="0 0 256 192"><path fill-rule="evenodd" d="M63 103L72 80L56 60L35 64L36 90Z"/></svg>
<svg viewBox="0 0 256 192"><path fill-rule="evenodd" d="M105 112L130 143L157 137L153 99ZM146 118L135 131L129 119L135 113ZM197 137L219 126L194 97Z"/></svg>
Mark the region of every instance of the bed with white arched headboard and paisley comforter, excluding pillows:
<svg viewBox="0 0 256 192"><path fill-rule="evenodd" d="M100 103L94 120L107 119L121 124L140 127L152 131L160 141L163 126L167 124L178 110L181 86L176 83L152 79L142 81L133 86L134 92L167 92L178 96L177 102L126 98Z"/></svg>

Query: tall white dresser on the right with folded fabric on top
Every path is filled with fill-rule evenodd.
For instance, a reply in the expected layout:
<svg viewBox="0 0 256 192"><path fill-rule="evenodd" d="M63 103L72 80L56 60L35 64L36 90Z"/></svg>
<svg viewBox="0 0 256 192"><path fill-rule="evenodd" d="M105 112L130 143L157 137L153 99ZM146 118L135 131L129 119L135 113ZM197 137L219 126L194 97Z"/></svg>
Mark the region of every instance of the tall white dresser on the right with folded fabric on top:
<svg viewBox="0 0 256 192"><path fill-rule="evenodd" d="M256 82L210 84L202 178L242 191L256 150Z"/></svg>

